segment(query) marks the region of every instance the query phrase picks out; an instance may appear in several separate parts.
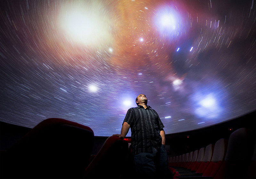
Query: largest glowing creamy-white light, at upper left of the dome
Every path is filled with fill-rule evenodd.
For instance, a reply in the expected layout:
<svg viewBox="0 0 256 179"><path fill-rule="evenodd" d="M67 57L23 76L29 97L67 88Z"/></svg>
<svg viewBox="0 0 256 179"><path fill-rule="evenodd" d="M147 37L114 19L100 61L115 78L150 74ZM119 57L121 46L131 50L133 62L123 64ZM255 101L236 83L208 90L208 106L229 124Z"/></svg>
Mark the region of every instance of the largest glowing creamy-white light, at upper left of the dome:
<svg viewBox="0 0 256 179"><path fill-rule="evenodd" d="M60 11L60 26L71 40L84 44L98 44L102 40L108 40L108 17L102 18L100 4L92 1L85 3L75 1Z"/></svg>

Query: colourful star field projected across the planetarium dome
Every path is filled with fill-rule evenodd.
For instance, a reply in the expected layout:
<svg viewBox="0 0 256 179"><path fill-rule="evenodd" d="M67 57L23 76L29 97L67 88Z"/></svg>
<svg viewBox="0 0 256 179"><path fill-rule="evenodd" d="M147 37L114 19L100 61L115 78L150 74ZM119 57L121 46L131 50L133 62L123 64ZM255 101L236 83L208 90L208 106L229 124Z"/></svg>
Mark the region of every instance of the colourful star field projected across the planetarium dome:
<svg viewBox="0 0 256 179"><path fill-rule="evenodd" d="M166 134L256 109L253 0L0 3L3 122L110 136L140 93Z"/></svg>

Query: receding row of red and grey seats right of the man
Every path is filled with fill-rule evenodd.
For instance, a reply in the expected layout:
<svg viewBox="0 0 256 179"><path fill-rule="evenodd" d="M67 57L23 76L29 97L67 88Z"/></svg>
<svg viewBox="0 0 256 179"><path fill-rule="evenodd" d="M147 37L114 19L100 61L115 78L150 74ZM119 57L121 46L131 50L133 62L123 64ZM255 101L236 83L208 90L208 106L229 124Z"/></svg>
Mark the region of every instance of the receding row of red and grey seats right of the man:
<svg viewBox="0 0 256 179"><path fill-rule="evenodd" d="M228 140L169 158L173 178L256 178L255 134L246 128L234 131Z"/></svg>

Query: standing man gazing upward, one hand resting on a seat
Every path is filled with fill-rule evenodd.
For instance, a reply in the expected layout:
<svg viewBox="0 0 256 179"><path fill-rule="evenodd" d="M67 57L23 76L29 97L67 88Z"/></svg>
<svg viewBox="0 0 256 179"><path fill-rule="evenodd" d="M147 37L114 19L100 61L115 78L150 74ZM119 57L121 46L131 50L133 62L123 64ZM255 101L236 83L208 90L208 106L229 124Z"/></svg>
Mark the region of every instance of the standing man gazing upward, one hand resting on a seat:
<svg viewBox="0 0 256 179"><path fill-rule="evenodd" d="M132 154L137 178L166 178L168 157L165 150L164 125L150 106L145 94L136 98L138 107L130 108L124 118L121 134L124 138L131 128Z"/></svg>

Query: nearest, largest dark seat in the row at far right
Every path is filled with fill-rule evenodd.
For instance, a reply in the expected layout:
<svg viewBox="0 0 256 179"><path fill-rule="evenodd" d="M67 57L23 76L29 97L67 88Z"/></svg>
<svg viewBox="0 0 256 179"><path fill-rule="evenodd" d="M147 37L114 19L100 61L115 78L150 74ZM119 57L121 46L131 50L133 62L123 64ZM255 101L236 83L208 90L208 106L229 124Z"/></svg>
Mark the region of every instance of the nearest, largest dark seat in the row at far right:
<svg viewBox="0 0 256 179"><path fill-rule="evenodd" d="M248 178L246 174L254 146L255 134L252 130L241 128L234 131L228 139L225 160L214 178Z"/></svg>

